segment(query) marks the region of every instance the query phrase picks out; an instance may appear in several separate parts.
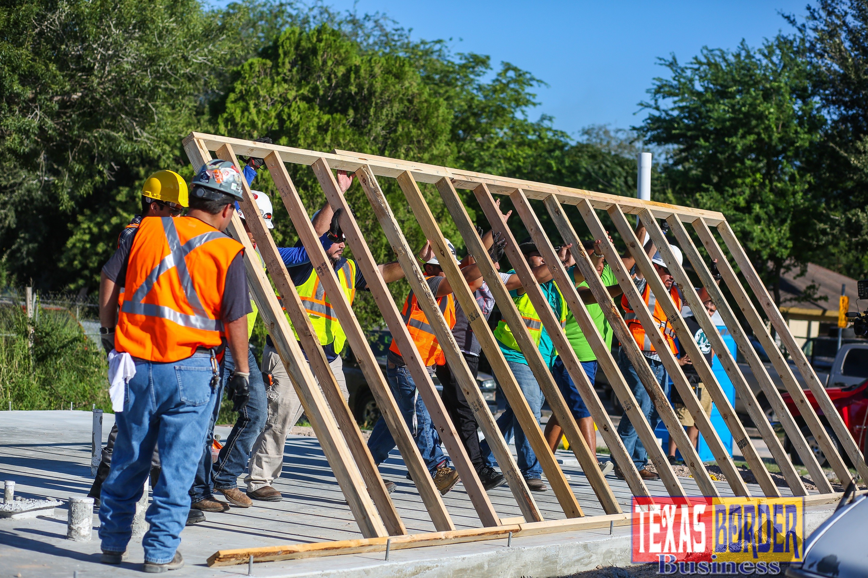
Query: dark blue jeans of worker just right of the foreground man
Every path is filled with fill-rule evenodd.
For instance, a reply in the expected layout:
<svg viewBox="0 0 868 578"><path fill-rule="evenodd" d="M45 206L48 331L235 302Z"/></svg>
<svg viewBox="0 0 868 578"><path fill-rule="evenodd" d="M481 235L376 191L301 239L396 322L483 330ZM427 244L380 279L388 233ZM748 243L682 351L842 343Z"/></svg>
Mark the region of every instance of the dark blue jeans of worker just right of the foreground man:
<svg viewBox="0 0 868 578"><path fill-rule="evenodd" d="M238 477L244 473L247 460L250 459L250 451L253 443L259 438L262 429L266 426L268 417L268 399L266 397L266 384L262 380L260 367L253 357L253 351L248 352L247 363L250 365L250 399L238 413L238 419L229 432L229 437L220 450L217 463L212 465L211 446L214 444L214 424L220 415L220 403L214 405L211 414L211 424L208 427L205 438L205 451L199 460L196 470L196 479L190 489L190 498L193 503L210 497L214 488L227 490L238 487ZM220 369L220 390L217 399L223 399L223 387L226 386L229 376L235 370L235 361L232 353L226 348L223 357L223 365Z"/></svg>

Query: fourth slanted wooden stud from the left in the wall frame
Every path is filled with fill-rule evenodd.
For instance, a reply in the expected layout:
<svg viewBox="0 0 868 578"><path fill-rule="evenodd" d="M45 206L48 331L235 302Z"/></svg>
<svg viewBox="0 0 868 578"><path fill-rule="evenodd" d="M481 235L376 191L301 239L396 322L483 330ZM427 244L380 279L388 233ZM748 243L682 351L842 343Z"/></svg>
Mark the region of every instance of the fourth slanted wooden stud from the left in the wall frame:
<svg viewBox="0 0 868 578"><path fill-rule="evenodd" d="M333 204L340 203L339 206L345 207L344 212L346 217L343 220L345 223L350 224L351 220L354 221L352 218L352 212L349 210L349 205L345 205L345 202L343 201L343 196L338 188L338 183L335 181L334 175L332 175L332 169L328 168L327 163L320 161L313 163L312 168L313 172L317 175L319 184L322 185L329 202ZM358 232L358 226L351 227L351 230L353 230L353 232ZM360 240L360 233L358 233L358 237ZM405 247L404 249L409 249L409 247ZM412 253L410 254L412 255ZM355 255L355 251L353 251L353 255ZM370 257L366 264L372 264L372 261L373 257ZM441 330L444 330L451 338L451 329L446 325L443 316L440 315L440 309L437 307L437 300L434 298L434 295L431 294L431 289L428 288L428 283L424 282L424 276L420 271L418 271L418 269L411 272L414 275L407 275L407 280L411 283L413 289L419 289L416 293L418 302L425 311L425 314L428 316L429 324L435 329L441 347L444 347L445 349L443 344L446 343L446 340L445 336L441 335ZM365 279L367 278L368 277L365 276ZM420 279L422 283L418 283ZM467 495L470 497L470 502L473 503L474 508L477 510L477 514L479 515L479 519L482 520L483 526L499 525L500 521L497 518L494 506L491 505L488 494L485 492L482 483L479 481L479 476L477 475L473 464L470 463L470 458L467 455L467 450L464 448L464 443L462 443L461 438L458 438L458 433L455 431L455 426L452 425L452 420L449 418L449 413L443 405L443 400L440 399L440 394L437 393L437 388L431 380L431 375L429 375L422 360L419 359L418 355L416 355L416 344L413 342L410 333L404 325L404 321L398 311L398 306L391 300L391 294L389 294L388 289L386 289L385 282L378 270L375 273L373 281L379 284L378 289L382 289L381 292L378 292L381 297L378 301L378 306L381 306L380 311L384 316L386 324L389 326L392 338L398 341L398 348L403 354L406 354L404 362L410 370L419 395L422 396L425 408L431 415L431 421L437 428L437 433L443 440L446 450L449 451L452 463L455 464L458 475L461 477L462 483L464 484L464 489L467 490ZM326 288L327 292L329 290L329 288ZM428 307L431 304L433 304L433 311ZM454 339L451 342L454 344ZM457 351L457 345L455 346L455 349ZM464 359L462 358L462 360ZM470 373L470 370L468 370L468 373ZM427 475L427 477L430 478L431 476ZM413 479L415 480L416 478L414 477Z"/></svg>

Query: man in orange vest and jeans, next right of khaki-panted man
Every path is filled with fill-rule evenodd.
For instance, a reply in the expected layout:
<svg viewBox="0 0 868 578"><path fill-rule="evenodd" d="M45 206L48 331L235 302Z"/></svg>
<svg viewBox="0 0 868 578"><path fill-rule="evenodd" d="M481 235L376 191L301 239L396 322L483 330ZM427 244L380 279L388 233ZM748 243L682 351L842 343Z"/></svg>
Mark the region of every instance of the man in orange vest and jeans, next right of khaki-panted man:
<svg viewBox="0 0 868 578"><path fill-rule="evenodd" d="M449 247L451 258L455 259L456 263L460 263L456 257L455 247L449 240L446 241L446 244ZM440 267L440 261L434 257L430 241L425 244L419 258L424 260L425 281L428 283L431 293L437 297L437 305L451 329L455 327L456 321L455 295L452 295L452 287L449 280L446 279L444 270ZM482 273L476 264L465 267L461 271L464 274L464 279L470 285L471 291L476 291L483 284ZM428 369L428 373L433 376L437 366L444 365L446 357L434 335L433 328L428 323L428 317L419 307L418 299L412 291L404 301L401 316L404 318L407 330L416 344L419 357ZM445 495L457 484L458 474L457 471L449 467L449 458L444 456L443 450L435 438L431 415L425 408L422 398L419 397L416 383L413 381L410 370L407 369L407 364L404 362L394 339L391 341L391 347L389 347L389 353L386 356L386 380L389 382L391 393L395 396L398 408L404 415L407 427L410 428L413 438L416 439L419 453L422 454L422 459L428 466L431 477L434 478L437 490L440 490L441 495ZM374 463L378 465L383 463L394 447L395 440L391 437L388 426L385 425L385 419L380 416L377 424L374 425L373 432L371 432L371 438L368 439L368 448L371 450ZM391 480L385 480L385 484L389 491L394 490L396 485Z"/></svg>

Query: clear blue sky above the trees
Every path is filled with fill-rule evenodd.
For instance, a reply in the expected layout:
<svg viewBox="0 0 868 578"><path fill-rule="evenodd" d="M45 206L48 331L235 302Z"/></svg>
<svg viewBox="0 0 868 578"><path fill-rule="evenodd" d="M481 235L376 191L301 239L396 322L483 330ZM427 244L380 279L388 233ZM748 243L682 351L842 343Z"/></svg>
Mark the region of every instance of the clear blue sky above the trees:
<svg viewBox="0 0 868 578"><path fill-rule="evenodd" d="M654 76L666 74L658 56L686 61L703 46L752 46L779 30L792 31L780 12L805 14L806 0L754 2L481 2L325 0L336 10L381 12L416 39L450 39L456 52L490 55L546 81L531 111L555 117L572 135L593 124L628 128L645 113L638 103Z"/></svg>

